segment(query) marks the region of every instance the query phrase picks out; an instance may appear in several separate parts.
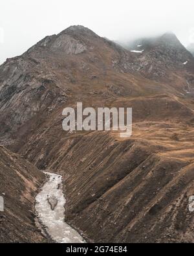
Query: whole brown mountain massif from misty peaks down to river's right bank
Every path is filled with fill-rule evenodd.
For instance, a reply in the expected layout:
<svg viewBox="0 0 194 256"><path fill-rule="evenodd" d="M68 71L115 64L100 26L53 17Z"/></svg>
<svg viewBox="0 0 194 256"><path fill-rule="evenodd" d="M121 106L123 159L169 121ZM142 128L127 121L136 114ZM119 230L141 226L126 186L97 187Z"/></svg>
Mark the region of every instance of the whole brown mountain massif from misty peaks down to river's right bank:
<svg viewBox="0 0 194 256"><path fill-rule="evenodd" d="M87 240L193 242L194 59L173 34L138 43L72 26L6 60L0 143L63 176L65 219ZM132 107L132 137L64 132L77 102Z"/></svg>

